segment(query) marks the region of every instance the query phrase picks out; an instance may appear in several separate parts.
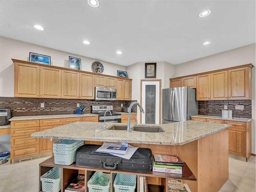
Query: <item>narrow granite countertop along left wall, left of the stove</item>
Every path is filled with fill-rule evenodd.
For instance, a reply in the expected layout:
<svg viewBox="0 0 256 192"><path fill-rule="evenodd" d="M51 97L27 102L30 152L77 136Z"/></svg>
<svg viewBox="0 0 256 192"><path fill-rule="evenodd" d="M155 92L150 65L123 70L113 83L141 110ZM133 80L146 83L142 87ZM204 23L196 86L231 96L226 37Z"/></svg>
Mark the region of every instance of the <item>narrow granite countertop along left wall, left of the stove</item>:
<svg viewBox="0 0 256 192"><path fill-rule="evenodd" d="M56 119L56 118L70 118L70 117L89 117L98 116L92 113L77 115L77 114L67 114L67 115L37 115L37 116L17 116L12 117L9 121L20 121L20 120L35 120L35 119Z"/></svg>

